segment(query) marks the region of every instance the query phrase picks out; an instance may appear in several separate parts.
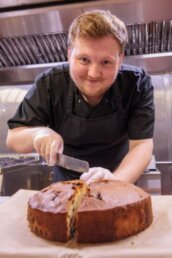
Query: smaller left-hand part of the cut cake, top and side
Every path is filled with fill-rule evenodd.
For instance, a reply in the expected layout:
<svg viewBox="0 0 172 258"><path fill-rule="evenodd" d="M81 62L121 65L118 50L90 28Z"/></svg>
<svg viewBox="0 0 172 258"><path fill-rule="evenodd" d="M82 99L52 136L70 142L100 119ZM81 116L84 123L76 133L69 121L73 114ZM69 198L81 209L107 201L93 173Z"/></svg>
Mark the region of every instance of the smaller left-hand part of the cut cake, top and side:
<svg viewBox="0 0 172 258"><path fill-rule="evenodd" d="M58 182L28 201L27 219L32 232L52 241L67 242L75 231L75 218L87 185L80 180Z"/></svg>

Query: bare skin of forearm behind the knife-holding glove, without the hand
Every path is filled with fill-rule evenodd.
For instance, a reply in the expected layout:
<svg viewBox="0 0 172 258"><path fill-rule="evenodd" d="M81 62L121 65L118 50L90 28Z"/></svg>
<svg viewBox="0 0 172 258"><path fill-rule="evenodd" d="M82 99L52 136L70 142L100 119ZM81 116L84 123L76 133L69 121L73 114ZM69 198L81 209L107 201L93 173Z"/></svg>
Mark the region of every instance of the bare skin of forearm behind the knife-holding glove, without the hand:
<svg viewBox="0 0 172 258"><path fill-rule="evenodd" d="M34 150L33 136L44 127L18 127L8 130L6 145L18 153L29 153ZM46 128L46 127L45 127Z"/></svg>

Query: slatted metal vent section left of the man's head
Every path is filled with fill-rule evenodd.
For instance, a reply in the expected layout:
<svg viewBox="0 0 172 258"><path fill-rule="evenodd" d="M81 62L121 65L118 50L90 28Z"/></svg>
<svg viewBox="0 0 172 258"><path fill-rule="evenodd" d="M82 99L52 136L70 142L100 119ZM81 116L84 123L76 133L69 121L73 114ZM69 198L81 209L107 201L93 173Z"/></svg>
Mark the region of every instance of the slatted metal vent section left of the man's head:
<svg viewBox="0 0 172 258"><path fill-rule="evenodd" d="M0 39L0 67L63 62L67 34L29 35Z"/></svg>

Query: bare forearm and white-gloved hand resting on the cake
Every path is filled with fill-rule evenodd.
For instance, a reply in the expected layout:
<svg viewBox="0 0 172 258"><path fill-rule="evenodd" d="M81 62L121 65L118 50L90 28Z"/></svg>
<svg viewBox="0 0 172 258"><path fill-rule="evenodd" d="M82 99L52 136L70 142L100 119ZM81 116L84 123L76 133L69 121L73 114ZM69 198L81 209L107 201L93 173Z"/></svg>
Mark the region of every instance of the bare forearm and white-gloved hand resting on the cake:
<svg viewBox="0 0 172 258"><path fill-rule="evenodd" d="M88 173L82 174L80 178L88 184L100 179L121 180L135 183L149 165L152 150L152 139L130 140L128 153L113 173L101 167L93 167Z"/></svg>

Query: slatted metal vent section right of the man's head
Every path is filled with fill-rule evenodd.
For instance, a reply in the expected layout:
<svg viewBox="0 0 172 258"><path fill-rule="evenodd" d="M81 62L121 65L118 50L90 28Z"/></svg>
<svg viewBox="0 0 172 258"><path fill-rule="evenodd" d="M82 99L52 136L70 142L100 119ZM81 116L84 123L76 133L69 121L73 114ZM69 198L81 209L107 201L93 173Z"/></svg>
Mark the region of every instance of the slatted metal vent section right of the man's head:
<svg viewBox="0 0 172 258"><path fill-rule="evenodd" d="M127 56L172 51L172 20L128 25L127 30Z"/></svg>

